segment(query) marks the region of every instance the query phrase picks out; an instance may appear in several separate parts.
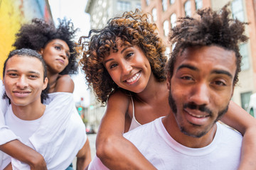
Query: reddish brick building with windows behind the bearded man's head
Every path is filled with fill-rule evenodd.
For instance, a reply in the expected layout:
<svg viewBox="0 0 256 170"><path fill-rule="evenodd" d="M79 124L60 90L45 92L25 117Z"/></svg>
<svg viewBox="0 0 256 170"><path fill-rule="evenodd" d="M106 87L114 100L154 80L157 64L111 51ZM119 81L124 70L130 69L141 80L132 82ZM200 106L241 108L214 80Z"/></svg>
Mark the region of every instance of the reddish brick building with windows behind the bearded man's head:
<svg viewBox="0 0 256 170"><path fill-rule="evenodd" d="M170 28L176 25L176 20L183 16L195 16L196 10L211 7L214 10L222 8L230 0L142 0L142 11L151 13L151 21L159 28L160 37L166 42L166 54L171 52L168 42ZM256 93L256 1L233 0L230 1L230 10L233 18L249 22L245 32L250 40L240 44L242 55L242 72L240 72L238 85L235 87L233 101L247 109L250 95Z"/></svg>

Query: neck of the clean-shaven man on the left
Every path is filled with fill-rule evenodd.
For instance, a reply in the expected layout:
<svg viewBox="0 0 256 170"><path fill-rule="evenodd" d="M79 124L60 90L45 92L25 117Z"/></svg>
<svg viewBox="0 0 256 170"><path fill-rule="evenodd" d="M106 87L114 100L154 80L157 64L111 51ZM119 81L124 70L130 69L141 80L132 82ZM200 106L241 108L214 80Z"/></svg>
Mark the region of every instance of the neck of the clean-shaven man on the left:
<svg viewBox="0 0 256 170"><path fill-rule="evenodd" d="M18 118L22 120L36 120L41 118L44 111L46 110L46 106L43 103L32 103L28 106L16 106L11 104L11 108Z"/></svg>

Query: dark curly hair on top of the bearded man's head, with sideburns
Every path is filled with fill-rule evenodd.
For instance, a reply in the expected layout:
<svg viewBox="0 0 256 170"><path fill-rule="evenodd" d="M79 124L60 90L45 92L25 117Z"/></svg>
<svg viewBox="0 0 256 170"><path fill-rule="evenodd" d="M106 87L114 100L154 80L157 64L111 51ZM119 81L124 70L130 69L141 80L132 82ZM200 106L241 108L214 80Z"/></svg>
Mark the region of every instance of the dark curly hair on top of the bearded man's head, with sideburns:
<svg viewBox="0 0 256 170"><path fill-rule="evenodd" d="M220 11L213 11L211 8L206 8L197 11L200 18L179 18L177 26L171 29L169 40L175 45L171 53L171 59L166 64L166 74L172 77L174 73L174 64L178 55L187 47L195 46L210 46L217 45L225 50L233 50L236 57L237 69L233 85L238 82L238 73L241 71L240 64L242 56L239 52L239 43L246 42L247 36L244 35L245 24L238 19L229 18L230 3L223 6Z"/></svg>

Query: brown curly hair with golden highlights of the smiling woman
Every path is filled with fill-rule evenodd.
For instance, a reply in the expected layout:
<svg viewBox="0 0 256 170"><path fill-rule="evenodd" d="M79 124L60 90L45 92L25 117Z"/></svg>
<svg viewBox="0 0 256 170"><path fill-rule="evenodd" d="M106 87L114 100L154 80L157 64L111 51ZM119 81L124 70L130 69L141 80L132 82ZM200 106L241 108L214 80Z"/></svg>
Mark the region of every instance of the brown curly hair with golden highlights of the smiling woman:
<svg viewBox="0 0 256 170"><path fill-rule="evenodd" d="M82 49L87 48L80 63L85 71L87 84L94 89L98 101L106 103L110 94L119 88L103 64L103 58L110 55L110 50L117 52L119 40L122 41L121 45L137 45L142 49L156 79L166 80L165 46L158 36L156 24L149 23L147 19L146 13L141 13L138 9L134 13L125 12L121 17L107 21L107 26L102 30L90 30L87 37L80 38L79 44L82 45Z"/></svg>

